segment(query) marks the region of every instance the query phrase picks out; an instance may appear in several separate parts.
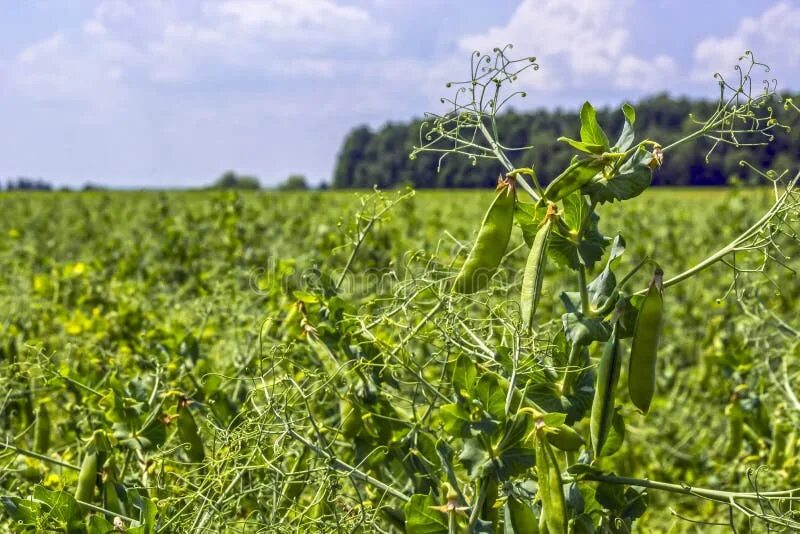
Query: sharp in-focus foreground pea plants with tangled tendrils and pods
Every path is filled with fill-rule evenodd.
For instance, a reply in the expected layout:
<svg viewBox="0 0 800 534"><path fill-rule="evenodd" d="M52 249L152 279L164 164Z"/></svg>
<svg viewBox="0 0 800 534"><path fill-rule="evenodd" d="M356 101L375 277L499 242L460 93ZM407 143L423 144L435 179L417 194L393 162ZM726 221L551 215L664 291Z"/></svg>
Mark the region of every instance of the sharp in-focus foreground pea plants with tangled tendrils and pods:
<svg viewBox="0 0 800 534"><path fill-rule="evenodd" d="M574 149L569 165L557 176L539 176L535 161L512 163L530 147L507 146L495 122L526 97L516 89L520 78L539 68L535 58L510 53L506 46L471 56L469 77L448 84L447 111L426 116L410 154L497 163L497 187L486 197L483 219L474 221L471 244L441 221L455 253L447 246L410 253L392 266L388 283L375 284L360 277L360 259L371 258L375 229L413 192L364 195L355 216L340 225L349 239L341 272L311 273L292 303L264 321L258 351L224 372L212 372L197 340L187 337L181 361L143 368L127 390L110 372L91 386L68 369L44 373L91 399L85 412L77 408L88 415L69 423L88 432L56 454L54 413L40 403L20 440L0 444L0 452L72 477L64 479L73 484L69 491L37 484L29 498L3 497L14 525L89 533L630 532L659 507L672 510L674 499L700 503L692 509L705 511L704 527L800 529L800 490L764 486L800 480L800 401L789 361L800 353L800 332L771 305L793 274L788 254L800 241L800 173L746 161L747 147L785 134L777 106L800 110L781 101L774 81L757 80L769 69L748 52L733 78L716 75L716 110L689 117L689 135L637 138L636 110L628 104L620 131L609 132L586 102L577 135L559 139ZM615 221L621 232L614 236L604 235L600 217L610 209L627 213L625 203L647 190L662 161L684 143L704 143L706 158L741 149L742 165L766 186L756 193L768 190L770 206L753 214L743 202L742 219L752 222L730 239L718 232L725 236L719 242L693 241L689 224L663 229L699 258L669 272L669 250L623 237L646 210L630 203L637 215ZM226 217L238 209L226 207ZM524 261L512 269L517 252ZM696 294L693 306L688 297L673 306L675 293L718 274L715 266L732 273L724 294L712 302ZM715 352L702 365L730 358L734 371L719 377L708 367L699 381L681 381L681 369L669 366L666 377L672 396L701 396L712 380L731 383L727 407L703 414L703 424L713 419L725 428L714 436L725 445L714 441L704 453L718 476L703 480L719 487L695 487L696 474L677 468L665 472L687 479L650 478L635 461L649 453L634 457L632 442L678 465L686 460L685 439L667 429L702 431L698 414L687 413L680 398L667 404L659 391L665 347L685 346L670 338L671 321L723 301L736 310L737 324L709 325L705 345ZM739 361L738 354L763 354L764 362ZM761 394L782 408L764 413L756 402ZM665 429L657 439L643 434L643 422L654 418L651 426ZM19 444L24 440L30 446ZM745 442L769 445L769 466L794 474L769 478L752 469L738 476ZM178 487L183 493L173 495L170 488ZM679 525L701 521L672 514Z"/></svg>

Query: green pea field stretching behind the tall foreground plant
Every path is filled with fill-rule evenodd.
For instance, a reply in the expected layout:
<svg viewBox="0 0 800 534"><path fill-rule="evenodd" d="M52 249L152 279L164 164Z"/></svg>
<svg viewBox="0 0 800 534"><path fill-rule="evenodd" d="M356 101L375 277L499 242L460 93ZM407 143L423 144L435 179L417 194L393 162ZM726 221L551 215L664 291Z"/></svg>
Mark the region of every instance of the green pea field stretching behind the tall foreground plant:
<svg viewBox="0 0 800 534"><path fill-rule="evenodd" d="M405 193L369 222L402 194L0 194L0 530L106 532L119 516L128 532L411 532L393 492L438 495L430 481L448 480L431 437L446 435L444 400L426 409L430 392L417 386L435 389L471 351L494 354L482 365L504 374L516 342L501 326L519 315L504 303L517 298L528 247L515 227L491 291L424 319L492 195ZM766 189L651 189L624 210L598 208L600 231L627 241L620 272L649 256L668 279L771 202ZM728 506L681 485L800 486L794 222L666 288L647 416L618 391L625 441L596 465L674 486L645 495L583 483L570 507L589 517L600 502L631 518L647 501L637 532L726 531ZM765 254L776 261L762 265ZM645 288L650 274L632 283ZM520 355L531 383L563 365L559 294L574 274L551 262L547 275L539 314L554 319ZM588 436L587 419L575 428ZM444 442L461 479L460 438ZM101 469L86 506L71 499L93 453ZM745 504L770 517L797 508ZM732 522L749 531L744 514ZM607 531L623 523L608 519ZM765 524L754 518L753 531Z"/></svg>

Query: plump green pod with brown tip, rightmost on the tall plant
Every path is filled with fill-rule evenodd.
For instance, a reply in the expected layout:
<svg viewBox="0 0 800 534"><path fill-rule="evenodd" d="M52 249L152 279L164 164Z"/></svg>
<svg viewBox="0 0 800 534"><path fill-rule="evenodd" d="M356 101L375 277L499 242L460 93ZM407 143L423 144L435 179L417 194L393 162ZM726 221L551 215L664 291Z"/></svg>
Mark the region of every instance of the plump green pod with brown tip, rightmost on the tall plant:
<svg viewBox="0 0 800 534"><path fill-rule="evenodd" d="M628 367L628 391L631 401L642 413L650 409L656 389L656 355L663 313L662 279L664 272L656 268L647 294L636 317Z"/></svg>

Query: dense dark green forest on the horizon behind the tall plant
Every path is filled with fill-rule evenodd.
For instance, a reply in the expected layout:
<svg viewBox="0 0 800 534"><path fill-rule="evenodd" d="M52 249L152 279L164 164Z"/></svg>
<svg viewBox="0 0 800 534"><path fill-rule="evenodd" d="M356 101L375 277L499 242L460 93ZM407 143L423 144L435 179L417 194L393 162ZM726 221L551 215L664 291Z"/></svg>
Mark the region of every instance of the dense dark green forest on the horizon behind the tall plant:
<svg viewBox="0 0 800 534"><path fill-rule="evenodd" d="M785 95L788 97L789 95ZM635 104L637 136L670 143L692 130L692 117L703 119L716 109L716 102L673 98L662 94ZM800 154L800 116L783 110L780 102L772 105L779 122L790 129L773 130L775 140L767 146L734 148L718 147L708 162L706 156L712 141L687 143L669 152L664 165L655 173L655 185L719 186L732 180L753 181L753 173L740 165L742 159L760 169L778 172L791 170ZM598 110L598 119L614 137L622 127L623 116L618 108ZM367 126L353 129L345 138L334 169L334 188L392 188L413 185L415 188L491 187L497 181L500 167L493 160L477 160L475 164L460 155L422 153L409 158L420 144L421 120L388 123L377 130ZM507 147L531 146L510 154L518 167L534 165L543 181L557 176L569 165L575 153L559 136L578 138L580 118L574 111L537 110L509 111L497 116L497 130L503 132L501 142ZM748 141L758 141L752 139Z"/></svg>

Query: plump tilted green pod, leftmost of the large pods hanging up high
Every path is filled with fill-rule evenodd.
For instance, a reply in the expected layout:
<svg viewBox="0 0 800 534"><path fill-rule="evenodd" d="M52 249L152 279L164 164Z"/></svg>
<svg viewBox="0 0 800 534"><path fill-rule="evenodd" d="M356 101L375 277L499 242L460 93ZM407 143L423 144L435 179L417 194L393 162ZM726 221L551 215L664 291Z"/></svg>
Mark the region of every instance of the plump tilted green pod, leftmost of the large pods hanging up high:
<svg viewBox="0 0 800 534"><path fill-rule="evenodd" d="M483 218L478 238L453 284L456 293L474 293L489 284L505 255L514 223L513 178L497 180L497 195Z"/></svg>

